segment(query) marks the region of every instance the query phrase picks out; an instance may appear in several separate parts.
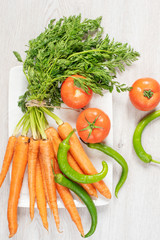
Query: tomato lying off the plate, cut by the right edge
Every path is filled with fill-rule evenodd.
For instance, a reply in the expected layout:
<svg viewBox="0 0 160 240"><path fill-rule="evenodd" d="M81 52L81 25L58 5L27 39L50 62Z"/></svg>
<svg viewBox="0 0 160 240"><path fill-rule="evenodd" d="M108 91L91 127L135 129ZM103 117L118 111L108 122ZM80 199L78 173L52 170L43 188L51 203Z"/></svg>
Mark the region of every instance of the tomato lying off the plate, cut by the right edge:
<svg viewBox="0 0 160 240"><path fill-rule="evenodd" d="M150 111L160 101L160 84L153 78L140 78L132 85L129 97L137 109Z"/></svg>

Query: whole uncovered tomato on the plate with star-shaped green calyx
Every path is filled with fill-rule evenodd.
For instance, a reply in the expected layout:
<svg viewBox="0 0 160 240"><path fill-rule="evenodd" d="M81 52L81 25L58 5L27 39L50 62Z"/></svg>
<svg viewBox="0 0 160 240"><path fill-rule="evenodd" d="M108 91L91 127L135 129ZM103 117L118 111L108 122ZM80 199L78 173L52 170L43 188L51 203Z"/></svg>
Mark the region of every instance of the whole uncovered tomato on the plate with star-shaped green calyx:
<svg viewBox="0 0 160 240"><path fill-rule="evenodd" d="M79 137L88 143L102 142L111 127L108 115L98 108L87 108L78 116L76 128Z"/></svg>

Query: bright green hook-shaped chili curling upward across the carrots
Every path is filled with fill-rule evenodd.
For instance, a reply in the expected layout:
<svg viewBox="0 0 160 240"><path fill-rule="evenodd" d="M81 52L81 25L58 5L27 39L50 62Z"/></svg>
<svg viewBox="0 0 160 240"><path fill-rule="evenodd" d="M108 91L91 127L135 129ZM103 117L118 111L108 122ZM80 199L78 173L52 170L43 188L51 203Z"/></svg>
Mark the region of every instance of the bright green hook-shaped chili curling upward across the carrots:
<svg viewBox="0 0 160 240"><path fill-rule="evenodd" d="M102 180L107 175L108 172L108 165L105 161L102 162L103 165L102 171L94 175L85 175L78 173L69 165L67 160L67 153L70 149L69 139L71 138L73 133L74 130L70 132L68 137L59 144L57 159L59 168L61 169L62 173L64 173L71 180L78 183L94 183Z"/></svg>

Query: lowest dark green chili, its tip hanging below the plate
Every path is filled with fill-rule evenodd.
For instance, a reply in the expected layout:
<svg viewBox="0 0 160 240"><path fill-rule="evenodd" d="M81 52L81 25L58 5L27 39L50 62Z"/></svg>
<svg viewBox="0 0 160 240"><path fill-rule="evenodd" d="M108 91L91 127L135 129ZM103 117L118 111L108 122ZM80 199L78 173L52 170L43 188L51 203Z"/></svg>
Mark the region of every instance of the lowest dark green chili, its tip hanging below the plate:
<svg viewBox="0 0 160 240"><path fill-rule="evenodd" d="M55 174L54 170L53 170L53 161L51 162L51 165L52 165L52 171L54 174L55 182L64 187L69 188L74 193L76 193L82 199L82 201L85 203L86 207L88 208L89 213L91 215L92 224L91 224L91 228L90 228L89 232L84 237L85 238L90 237L95 232L96 226L97 226L97 210L96 210L96 207L95 207L92 199L90 198L88 193L79 184L67 179L61 173Z"/></svg>

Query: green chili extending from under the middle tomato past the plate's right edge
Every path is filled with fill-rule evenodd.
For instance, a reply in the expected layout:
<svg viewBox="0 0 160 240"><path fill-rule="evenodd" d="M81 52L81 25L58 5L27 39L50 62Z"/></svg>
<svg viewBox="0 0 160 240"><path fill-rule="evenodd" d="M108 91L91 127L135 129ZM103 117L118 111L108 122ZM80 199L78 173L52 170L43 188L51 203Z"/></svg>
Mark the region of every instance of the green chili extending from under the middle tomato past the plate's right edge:
<svg viewBox="0 0 160 240"><path fill-rule="evenodd" d="M122 174L120 177L119 182L117 183L116 189L115 189L115 196L118 198L118 192L124 182L126 181L127 175L128 175L128 165L125 161L125 159L118 153L116 152L113 148L108 147L107 145L103 143L86 143L88 147L97 149L108 156L114 158L122 167Z"/></svg>

